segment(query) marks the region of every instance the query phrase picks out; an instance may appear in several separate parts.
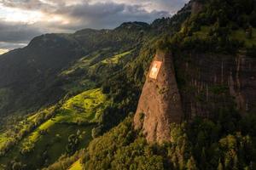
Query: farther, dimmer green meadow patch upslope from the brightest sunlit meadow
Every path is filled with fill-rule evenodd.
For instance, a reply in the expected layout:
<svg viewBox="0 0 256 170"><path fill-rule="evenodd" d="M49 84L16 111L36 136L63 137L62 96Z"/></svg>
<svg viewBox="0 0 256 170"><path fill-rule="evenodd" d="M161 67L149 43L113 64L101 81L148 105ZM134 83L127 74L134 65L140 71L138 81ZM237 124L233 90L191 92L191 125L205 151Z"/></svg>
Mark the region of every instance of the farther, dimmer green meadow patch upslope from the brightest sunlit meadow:
<svg viewBox="0 0 256 170"><path fill-rule="evenodd" d="M112 52L109 49L96 51L93 54L86 55L79 59L67 70L61 72L59 77L69 79L69 77L79 77L65 83L61 88L73 94L78 94L84 90L96 88L95 81L90 77L97 75L99 80L108 76L108 72L113 72L113 65L119 64L119 61L132 53L133 50L126 52Z"/></svg>

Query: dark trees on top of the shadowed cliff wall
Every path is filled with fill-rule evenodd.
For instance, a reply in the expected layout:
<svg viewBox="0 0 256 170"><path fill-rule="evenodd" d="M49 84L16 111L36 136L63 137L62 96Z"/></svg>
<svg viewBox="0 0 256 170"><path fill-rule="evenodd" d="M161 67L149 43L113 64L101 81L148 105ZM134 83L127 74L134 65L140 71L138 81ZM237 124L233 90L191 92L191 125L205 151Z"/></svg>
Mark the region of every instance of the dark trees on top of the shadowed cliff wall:
<svg viewBox="0 0 256 170"><path fill-rule="evenodd" d="M243 41L231 36L233 31L244 31L246 38L253 37L256 27L256 2L253 0L212 0L200 1L204 8L198 14L193 14L184 21L182 30L173 37L168 37L168 44L177 51L213 52L236 54L239 48L246 48ZM202 26L209 28L202 31ZM197 36L200 31L205 36ZM244 37L241 37L244 38ZM255 56L255 47L247 49Z"/></svg>

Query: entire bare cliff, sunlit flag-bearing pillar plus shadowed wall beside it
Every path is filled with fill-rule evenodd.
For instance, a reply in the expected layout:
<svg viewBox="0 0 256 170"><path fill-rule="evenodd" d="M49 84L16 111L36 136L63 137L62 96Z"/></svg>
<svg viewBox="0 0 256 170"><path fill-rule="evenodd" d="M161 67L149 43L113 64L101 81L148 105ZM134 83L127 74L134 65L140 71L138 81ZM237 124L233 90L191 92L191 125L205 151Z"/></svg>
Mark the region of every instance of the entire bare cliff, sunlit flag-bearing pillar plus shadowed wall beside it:
<svg viewBox="0 0 256 170"><path fill-rule="evenodd" d="M170 139L172 122L212 117L230 109L241 114L256 111L255 91L253 57L158 52L137 106L135 128L143 129L148 142L161 143Z"/></svg>

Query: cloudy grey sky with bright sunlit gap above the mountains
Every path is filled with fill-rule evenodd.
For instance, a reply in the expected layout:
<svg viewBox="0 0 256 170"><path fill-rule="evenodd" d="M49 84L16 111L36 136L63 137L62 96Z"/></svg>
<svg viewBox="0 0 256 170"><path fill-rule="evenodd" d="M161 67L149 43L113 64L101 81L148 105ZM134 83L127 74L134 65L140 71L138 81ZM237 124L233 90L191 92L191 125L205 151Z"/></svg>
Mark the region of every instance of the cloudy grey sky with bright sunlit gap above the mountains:
<svg viewBox="0 0 256 170"><path fill-rule="evenodd" d="M189 0L0 0L0 54L44 33L113 29L170 17Z"/></svg>

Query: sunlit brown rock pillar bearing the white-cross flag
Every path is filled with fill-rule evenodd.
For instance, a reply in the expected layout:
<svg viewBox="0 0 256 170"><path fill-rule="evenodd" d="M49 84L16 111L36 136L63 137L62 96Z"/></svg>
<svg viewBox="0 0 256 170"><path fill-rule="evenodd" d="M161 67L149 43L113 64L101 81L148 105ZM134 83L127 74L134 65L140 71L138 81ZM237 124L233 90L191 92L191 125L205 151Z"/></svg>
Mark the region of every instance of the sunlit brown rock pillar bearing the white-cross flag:
<svg viewBox="0 0 256 170"><path fill-rule="evenodd" d="M154 61L160 66L155 65ZM148 142L162 143L170 139L170 124L181 122L183 111L172 55L158 52L154 61L139 99L134 122L136 129L143 128ZM159 72L157 67L160 68Z"/></svg>

